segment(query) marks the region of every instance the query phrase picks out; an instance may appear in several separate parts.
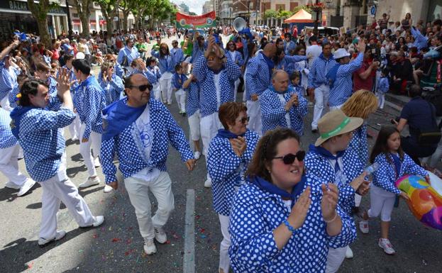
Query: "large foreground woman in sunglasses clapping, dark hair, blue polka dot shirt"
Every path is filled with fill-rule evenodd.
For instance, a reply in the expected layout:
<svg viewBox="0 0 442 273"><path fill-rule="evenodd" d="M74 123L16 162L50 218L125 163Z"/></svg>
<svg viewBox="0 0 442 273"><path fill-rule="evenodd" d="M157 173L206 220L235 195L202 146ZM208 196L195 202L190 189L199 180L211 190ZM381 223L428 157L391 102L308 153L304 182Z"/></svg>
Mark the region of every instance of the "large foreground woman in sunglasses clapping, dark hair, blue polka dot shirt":
<svg viewBox="0 0 442 273"><path fill-rule="evenodd" d="M328 247L355 239L336 186L304 174L304 155L286 128L258 143L231 210L234 272L325 272Z"/></svg>

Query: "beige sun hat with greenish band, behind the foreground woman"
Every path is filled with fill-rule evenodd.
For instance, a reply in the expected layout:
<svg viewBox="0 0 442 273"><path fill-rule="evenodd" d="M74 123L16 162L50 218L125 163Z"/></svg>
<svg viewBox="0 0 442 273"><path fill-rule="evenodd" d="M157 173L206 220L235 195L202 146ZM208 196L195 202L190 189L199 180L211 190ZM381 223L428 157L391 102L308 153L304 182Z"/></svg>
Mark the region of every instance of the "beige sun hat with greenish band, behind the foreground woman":
<svg viewBox="0 0 442 273"><path fill-rule="evenodd" d="M328 138L351 132L363 124L362 118L349 118L341 109L326 113L318 122L319 138L314 143L319 146Z"/></svg>

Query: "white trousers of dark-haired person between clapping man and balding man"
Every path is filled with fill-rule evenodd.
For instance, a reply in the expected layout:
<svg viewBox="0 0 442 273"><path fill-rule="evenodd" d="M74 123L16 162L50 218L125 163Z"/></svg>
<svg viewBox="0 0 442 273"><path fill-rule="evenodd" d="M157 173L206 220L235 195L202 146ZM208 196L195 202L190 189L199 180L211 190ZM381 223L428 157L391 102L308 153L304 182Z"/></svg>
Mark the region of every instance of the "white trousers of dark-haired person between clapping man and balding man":
<svg viewBox="0 0 442 273"><path fill-rule="evenodd" d="M82 136L82 138L84 135L85 128L86 125L82 123L82 126L80 126L80 135ZM91 134L89 135L89 141L87 143L83 143L82 138L80 138L79 153L83 157L84 165L86 165L87 167L87 172L89 173L89 177L95 177L96 171L94 165L94 157L98 157L100 155L101 134L92 131ZM91 153L91 147L92 147L92 152L94 153L94 157L92 156Z"/></svg>

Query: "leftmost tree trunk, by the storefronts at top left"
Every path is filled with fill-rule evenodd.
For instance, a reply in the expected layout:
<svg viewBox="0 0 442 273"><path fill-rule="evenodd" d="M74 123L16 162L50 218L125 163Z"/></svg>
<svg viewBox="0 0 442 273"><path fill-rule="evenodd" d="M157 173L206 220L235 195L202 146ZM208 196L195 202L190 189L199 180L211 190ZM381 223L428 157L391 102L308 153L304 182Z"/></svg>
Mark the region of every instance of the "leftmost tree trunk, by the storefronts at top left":
<svg viewBox="0 0 442 273"><path fill-rule="evenodd" d="M37 21L40 40L45 44L46 48L51 47L48 29L48 12L57 6L57 3L50 3L49 0L40 0L38 3L34 3L34 0L28 0L29 10Z"/></svg>

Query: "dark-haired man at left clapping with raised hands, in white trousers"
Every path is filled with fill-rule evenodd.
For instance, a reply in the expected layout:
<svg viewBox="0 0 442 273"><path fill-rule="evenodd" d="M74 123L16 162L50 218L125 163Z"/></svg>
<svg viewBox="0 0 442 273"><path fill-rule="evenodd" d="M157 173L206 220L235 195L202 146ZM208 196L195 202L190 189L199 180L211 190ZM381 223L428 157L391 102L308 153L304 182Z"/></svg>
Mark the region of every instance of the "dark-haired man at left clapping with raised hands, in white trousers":
<svg viewBox="0 0 442 273"><path fill-rule="evenodd" d="M66 234L57 231L61 201L80 227L97 227L104 222L103 216L92 215L66 174L65 138L59 129L75 118L69 84L66 69L60 72L58 90L52 96L45 82L28 80L21 87L19 106L11 112L11 130L23 147L26 169L43 188L41 247Z"/></svg>

